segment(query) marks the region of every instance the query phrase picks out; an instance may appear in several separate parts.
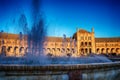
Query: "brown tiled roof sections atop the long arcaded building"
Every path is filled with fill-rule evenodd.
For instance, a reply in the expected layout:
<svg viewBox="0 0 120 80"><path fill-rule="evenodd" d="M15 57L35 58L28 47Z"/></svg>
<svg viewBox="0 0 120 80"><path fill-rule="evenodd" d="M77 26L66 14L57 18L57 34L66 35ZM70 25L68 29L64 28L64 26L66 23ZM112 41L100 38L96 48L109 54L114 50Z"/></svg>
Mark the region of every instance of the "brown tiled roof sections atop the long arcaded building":
<svg viewBox="0 0 120 80"><path fill-rule="evenodd" d="M86 32L85 30L80 30L81 32ZM27 39L27 36L24 36ZM18 34L11 33L0 33L0 38L2 39L19 39ZM62 42L63 37L46 37L46 41L50 42ZM70 41L70 38L66 38L66 41ZM120 37L112 37L112 38L95 38L95 42L120 42Z"/></svg>

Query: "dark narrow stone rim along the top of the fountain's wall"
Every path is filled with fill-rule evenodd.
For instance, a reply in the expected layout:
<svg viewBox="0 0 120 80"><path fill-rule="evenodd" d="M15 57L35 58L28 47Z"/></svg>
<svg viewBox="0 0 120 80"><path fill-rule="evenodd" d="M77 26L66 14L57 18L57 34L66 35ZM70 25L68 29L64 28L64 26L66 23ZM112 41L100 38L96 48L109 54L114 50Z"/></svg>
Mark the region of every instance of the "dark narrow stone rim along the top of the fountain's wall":
<svg viewBox="0 0 120 80"><path fill-rule="evenodd" d="M51 65L0 65L0 71L69 71L119 68L120 62L91 63L91 64L51 64Z"/></svg>

